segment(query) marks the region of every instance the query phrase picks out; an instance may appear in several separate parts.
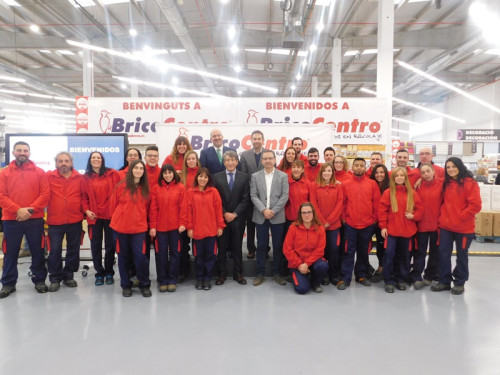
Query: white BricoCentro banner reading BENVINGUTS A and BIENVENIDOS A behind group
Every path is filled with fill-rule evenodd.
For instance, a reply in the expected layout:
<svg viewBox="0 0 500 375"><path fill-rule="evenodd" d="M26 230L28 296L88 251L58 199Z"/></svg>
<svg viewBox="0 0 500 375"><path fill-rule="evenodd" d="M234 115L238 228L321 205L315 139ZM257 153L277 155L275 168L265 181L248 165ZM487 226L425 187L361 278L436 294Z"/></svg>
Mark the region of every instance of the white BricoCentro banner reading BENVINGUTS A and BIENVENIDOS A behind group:
<svg viewBox="0 0 500 375"><path fill-rule="evenodd" d="M216 127L238 151L251 147L249 135L259 129L275 151L299 136L304 149L321 153L332 144L387 144L391 106L388 100L345 98L89 98L88 129L80 132L128 133L131 145L158 144L167 154L180 134L197 150L210 146Z"/></svg>

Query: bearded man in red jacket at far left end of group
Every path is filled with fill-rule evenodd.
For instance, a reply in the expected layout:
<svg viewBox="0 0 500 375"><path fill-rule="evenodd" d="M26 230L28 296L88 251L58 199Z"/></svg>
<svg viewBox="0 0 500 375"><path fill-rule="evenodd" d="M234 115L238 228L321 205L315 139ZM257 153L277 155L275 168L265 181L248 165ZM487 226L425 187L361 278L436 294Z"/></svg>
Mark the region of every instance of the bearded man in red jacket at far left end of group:
<svg viewBox="0 0 500 375"><path fill-rule="evenodd" d="M13 160L8 168L0 172L0 206L4 241L4 265L0 298L8 297L16 291L18 278L17 258L23 235L31 251L31 280L38 293L48 291L45 285L43 243L43 210L49 201L47 175L35 166L30 157L30 146L23 141L13 147Z"/></svg>

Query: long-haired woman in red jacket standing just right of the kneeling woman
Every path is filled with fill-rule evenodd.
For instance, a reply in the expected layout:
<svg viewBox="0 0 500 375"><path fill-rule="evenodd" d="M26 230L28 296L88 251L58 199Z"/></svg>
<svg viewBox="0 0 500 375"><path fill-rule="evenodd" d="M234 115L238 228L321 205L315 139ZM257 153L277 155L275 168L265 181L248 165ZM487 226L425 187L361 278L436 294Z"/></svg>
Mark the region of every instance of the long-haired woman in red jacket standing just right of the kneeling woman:
<svg viewBox="0 0 500 375"><path fill-rule="evenodd" d="M332 164L323 164L316 182L311 186L311 203L326 231L325 255L328 259L329 279L333 285L340 281L340 215L343 200L342 185L335 180Z"/></svg>

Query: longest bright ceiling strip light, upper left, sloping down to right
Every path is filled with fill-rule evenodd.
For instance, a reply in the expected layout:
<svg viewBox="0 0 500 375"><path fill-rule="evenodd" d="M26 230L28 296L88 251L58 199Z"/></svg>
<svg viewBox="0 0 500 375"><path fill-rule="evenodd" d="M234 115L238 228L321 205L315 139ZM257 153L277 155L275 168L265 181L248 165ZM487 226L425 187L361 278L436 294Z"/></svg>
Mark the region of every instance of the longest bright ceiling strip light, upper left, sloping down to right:
<svg viewBox="0 0 500 375"><path fill-rule="evenodd" d="M129 59L129 60L141 61L143 64L146 64L146 65L149 65L149 66L154 66L157 69L160 69L160 71L162 69L172 69L172 70L176 70L176 71L179 71L179 72L184 72L184 73L189 73L189 74L197 74L197 75L202 76L202 77L213 78L213 79L218 79L218 80L222 80L222 81L226 81L226 82L231 82L231 83L235 83L235 84L238 84L238 85L244 85L244 86L248 86L248 87L254 87L254 88L257 88L257 89L260 89L260 90L263 90L263 91L271 92L273 94L277 94L278 93L278 89L276 89L274 87L263 86L263 85L259 85L257 83L253 83L253 82L249 82L249 81L243 81L243 80L238 79L238 78L233 78L233 77L228 77L228 76L222 76L222 75L215 74L215 73L210 73L210 72L207 72L207 71L204 71L204 70L192 69L192 68L188 68L188 67L183 66L183 65L168 64L168 63L165 63L164 61L156 60L154 58L151 58L151 59L140 59L138 56L134 56L134 55L132 55L131 53L128 53L128 52L127 53L118 52L118 51L110 50L110 49L107 49L107 48L93 46L91 44L76 42L76 41L69 40L69 39L66 40L66 43L68 43L69 45L75 46L75 47L85 48L85 49L89 49L89 50L96 51L96 52L108 53L110 55L122 57L122 58ZM173 53L173 50L170 50L170 53Z"/></svg>

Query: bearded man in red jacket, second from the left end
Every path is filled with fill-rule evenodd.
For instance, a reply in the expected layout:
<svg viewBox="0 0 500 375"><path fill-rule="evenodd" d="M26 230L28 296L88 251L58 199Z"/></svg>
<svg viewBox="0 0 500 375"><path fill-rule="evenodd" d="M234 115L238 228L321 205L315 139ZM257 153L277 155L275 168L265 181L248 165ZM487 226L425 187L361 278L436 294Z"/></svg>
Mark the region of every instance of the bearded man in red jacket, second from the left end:
<svg viewBox="0 0 500 375"><path fill-rule="evenodd" d="M77 286L73 275L80 265L82 220L89 211L89 200L83 176L73 169L73 156L62 151L56 155L56 169L47 173L50 199L47 206L49 225L49 292L57 292L61 282L68 288ZM62 243L66 236L66 261L63 268Z"/></svg>

